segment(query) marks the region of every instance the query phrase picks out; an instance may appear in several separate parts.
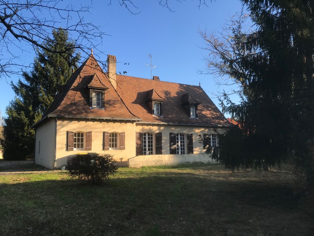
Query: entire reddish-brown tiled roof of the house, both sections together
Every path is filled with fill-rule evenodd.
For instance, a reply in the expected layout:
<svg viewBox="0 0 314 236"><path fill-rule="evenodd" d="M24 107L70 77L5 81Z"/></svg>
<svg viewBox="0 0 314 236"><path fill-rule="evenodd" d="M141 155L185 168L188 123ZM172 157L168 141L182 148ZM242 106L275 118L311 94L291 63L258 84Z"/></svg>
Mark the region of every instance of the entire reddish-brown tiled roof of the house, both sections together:
<svg viewBox="0 0 314 236"><path fill-rule="evenodd" d="M178 123L209 126L233 126L200 86L116 75L117 90L101 70L95 57L76 70L51 104L46 115L75 117L115 117L142 120L142 122ZM105 109L89 107L89 89L103 86ZM183 95L198 105L198 118L190 118L183 106ZM163 116L151 114L148 100L163 102Z"/></svg>

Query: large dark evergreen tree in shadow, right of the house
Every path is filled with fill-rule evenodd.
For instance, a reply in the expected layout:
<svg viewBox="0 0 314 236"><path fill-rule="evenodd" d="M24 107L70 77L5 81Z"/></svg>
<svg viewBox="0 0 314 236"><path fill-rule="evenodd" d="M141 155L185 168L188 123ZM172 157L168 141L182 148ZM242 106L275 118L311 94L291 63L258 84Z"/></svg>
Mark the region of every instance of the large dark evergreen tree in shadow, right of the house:
<svg viewBox="0 0 314 236"><path fill-rule="evenodd" d="M227 70L221 74L241 85L243 98L241 104L226 94L221 100L239 131L219 136L214 158L234 169L280 164L293 156L300 179L313 191L314 2L242 2L256 29L231 26L232 56L212 47L220 55L217 65Z"/></svg>

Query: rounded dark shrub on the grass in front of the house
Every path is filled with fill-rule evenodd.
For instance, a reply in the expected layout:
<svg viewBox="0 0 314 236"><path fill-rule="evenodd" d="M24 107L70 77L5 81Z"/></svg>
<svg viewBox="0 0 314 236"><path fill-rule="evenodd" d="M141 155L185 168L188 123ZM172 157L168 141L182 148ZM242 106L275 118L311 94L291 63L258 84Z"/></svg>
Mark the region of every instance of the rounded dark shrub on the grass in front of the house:
<svg viewBox="0 0 314 236"><path fill-rule="evenodd" d="M118 166L115 163L113 155L109 154L78 154L68 161L68 170L71 178L95 184L116 173Z"/></svg>

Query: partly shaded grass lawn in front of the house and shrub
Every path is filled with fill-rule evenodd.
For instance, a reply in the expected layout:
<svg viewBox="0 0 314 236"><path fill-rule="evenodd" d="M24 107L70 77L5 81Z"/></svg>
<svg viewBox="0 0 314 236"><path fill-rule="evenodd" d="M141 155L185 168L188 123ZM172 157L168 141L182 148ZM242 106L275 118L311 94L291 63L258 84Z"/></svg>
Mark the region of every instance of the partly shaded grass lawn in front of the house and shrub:
<svg viewBox="0 0 314 236"><path fill-rule="evenodd" d="M294 175L221 165L119 168L103 186L67 172L0 175L0 235L312 235Z"/></svg>

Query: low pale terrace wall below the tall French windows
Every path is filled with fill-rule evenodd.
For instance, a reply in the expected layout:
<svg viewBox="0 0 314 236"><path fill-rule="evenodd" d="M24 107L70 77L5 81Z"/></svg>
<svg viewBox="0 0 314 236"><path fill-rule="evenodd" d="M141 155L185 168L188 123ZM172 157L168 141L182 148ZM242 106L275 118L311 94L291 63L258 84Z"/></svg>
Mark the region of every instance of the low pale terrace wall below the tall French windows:
<svg viewBox="0 0 314 236"><path fill-rule="evenodd" d="M214 162L207 154L183 154L183 155L147 155L136 156L128 159L129 167L142 166L168 166L191 163L212 163Z"/></svg>

